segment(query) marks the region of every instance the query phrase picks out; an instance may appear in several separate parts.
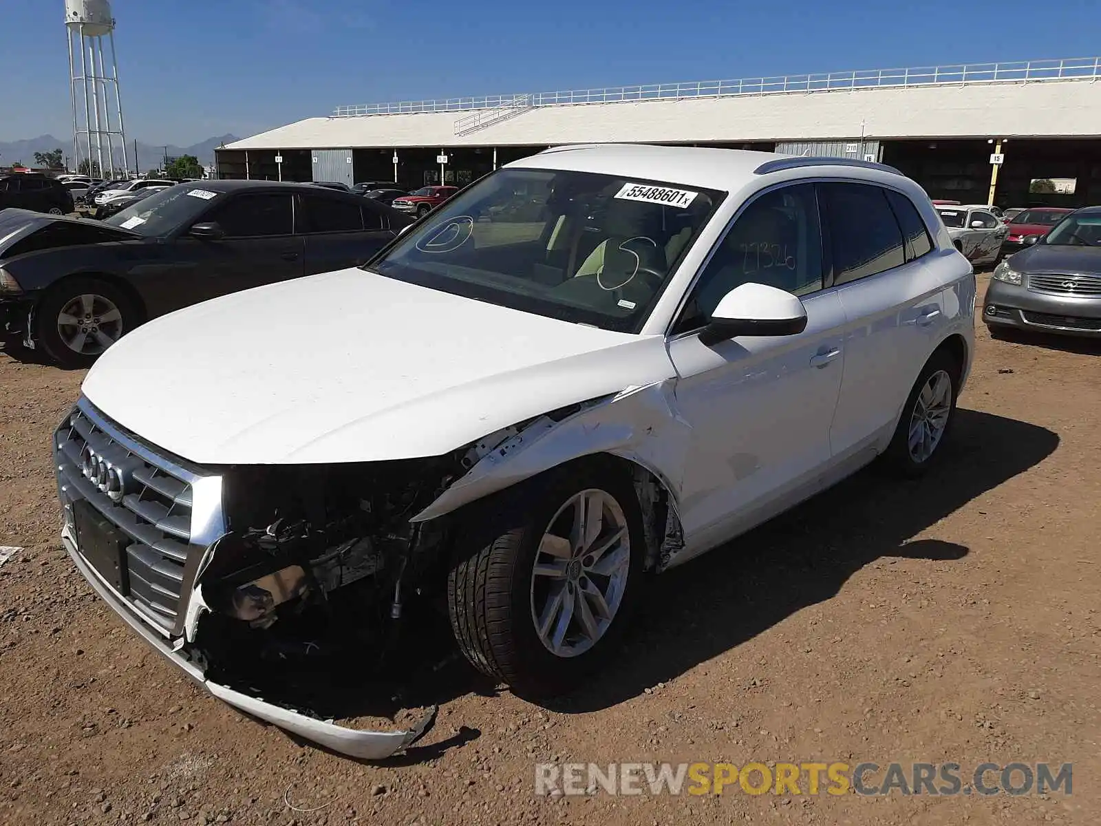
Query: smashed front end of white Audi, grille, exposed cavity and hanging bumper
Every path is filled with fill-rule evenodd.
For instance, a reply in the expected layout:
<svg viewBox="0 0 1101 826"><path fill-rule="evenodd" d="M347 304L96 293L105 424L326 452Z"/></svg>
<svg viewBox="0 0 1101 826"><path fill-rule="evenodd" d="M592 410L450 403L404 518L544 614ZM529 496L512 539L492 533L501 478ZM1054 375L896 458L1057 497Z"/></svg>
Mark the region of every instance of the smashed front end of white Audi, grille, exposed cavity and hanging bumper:
<svg viewBox="0 0 1101 826"><path fill-rule="evenodd" d="M461 456L197 468L86 399L58 427L54 455L78 569L215 696L361 759L386 758L428 729L432 707L399 731L333 720L366 714L366 695L386 683L406 599L432 597L421 583L444 564L446 520L410 515L464 471Z"/></svg>

